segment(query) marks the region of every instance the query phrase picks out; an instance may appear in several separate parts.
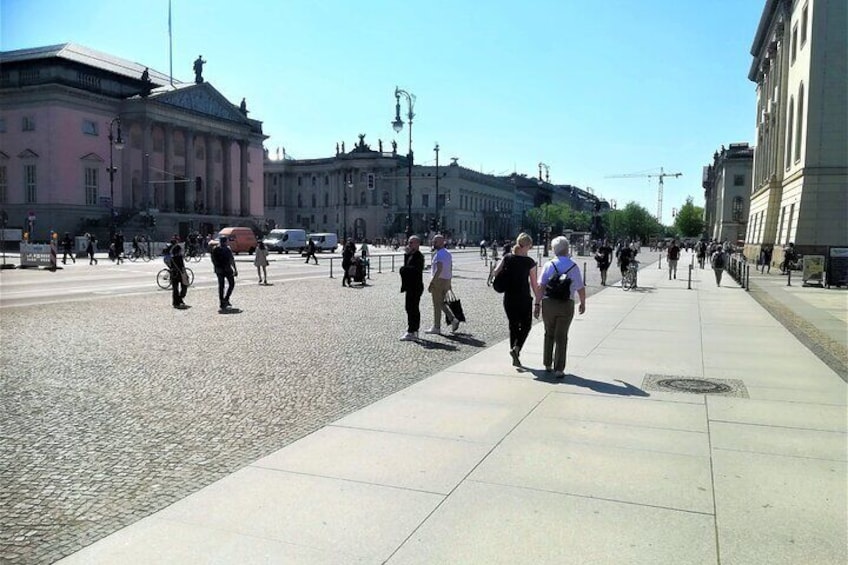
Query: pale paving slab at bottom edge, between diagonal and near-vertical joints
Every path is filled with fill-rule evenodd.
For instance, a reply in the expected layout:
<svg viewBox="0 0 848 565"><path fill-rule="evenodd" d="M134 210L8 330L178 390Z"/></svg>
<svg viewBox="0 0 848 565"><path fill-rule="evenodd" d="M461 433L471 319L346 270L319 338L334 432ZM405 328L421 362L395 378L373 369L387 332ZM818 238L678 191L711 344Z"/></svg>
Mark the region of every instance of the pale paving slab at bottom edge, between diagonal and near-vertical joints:
<svg viewBox="0 0 848 565"><path fill-rule="evenodd" d="M657 556L716 565L713 516L467 481L387 564L656 565Z"/></svg>

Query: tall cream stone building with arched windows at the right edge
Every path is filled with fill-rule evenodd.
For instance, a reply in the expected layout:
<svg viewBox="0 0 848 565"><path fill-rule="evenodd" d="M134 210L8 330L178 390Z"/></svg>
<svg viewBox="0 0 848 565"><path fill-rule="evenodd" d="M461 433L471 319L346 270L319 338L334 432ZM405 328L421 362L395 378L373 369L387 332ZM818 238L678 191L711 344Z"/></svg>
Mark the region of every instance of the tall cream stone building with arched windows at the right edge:
<svg viewBox="0 0 848 565"><path fill-rule="evenodd" d="M746 254L848 245L848 3L767 0L751 47L756 151Z"/></svg>

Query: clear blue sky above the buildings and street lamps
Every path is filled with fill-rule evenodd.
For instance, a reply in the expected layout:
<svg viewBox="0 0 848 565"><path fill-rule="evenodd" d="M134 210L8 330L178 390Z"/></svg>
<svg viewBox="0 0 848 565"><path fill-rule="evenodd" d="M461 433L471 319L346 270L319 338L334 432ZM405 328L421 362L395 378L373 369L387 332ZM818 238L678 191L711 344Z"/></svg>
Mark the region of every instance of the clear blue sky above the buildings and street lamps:
<svg viewBox="0 0 848 565"><path fill-rule="evenodd" d="M753 143L749 54L765 0L172 0L174 76L247 98L273 155L357 134L407 150L394 88L417 96L416 162L592 187L663 220L722 144ZM2 50L74 42L168 73L168 0L0 0ZM406 111L406 106L402 112Z"/></svg>

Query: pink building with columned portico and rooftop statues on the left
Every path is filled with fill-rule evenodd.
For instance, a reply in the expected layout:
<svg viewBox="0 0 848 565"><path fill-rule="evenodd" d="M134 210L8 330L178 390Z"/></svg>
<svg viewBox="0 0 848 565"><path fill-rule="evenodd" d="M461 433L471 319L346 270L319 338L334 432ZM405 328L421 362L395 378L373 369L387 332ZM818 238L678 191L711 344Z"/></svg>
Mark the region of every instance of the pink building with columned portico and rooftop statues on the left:
<svg viewBox="0 0 848 565"><path fill-rule="evenodd" d="M202 76L171 84L74 44L0 61L7 227L161 240L264 226L262 124Z"/></svg>

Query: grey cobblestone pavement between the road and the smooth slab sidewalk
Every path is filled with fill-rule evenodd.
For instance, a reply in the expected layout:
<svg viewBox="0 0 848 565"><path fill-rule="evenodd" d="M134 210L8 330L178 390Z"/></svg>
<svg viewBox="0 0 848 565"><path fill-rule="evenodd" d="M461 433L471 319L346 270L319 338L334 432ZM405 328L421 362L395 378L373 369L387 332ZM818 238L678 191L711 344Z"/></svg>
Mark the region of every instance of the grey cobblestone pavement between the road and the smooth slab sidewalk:
<svg viewBox="0 0 848 565"><path fill-rule="evenodd" d="M245 277L229 315L213 289L183 311L166 292L4 309L0 563L52 563L505 339L487 273L457 261L469 323L421 345L398 341L392 273L352 289Z"/></svg>

